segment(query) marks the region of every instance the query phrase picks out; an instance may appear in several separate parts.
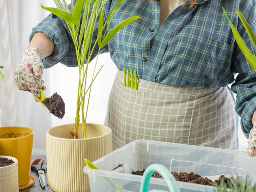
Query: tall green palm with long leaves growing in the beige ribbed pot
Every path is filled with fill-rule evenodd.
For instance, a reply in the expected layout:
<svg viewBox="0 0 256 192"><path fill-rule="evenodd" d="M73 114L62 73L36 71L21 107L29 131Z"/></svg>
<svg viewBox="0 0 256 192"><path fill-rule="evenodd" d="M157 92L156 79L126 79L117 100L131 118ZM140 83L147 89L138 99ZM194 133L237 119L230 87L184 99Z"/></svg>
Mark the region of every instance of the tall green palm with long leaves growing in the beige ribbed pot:
<svg viewBox="0 0 256 192"><path fill-rule="evenodd" d="M79 69L79 86L76 102L75 127L74 130L70 132L70 134L74 138L78 138L78 129L81 113L83 138L86 138L86 119L88 114L88 104L90 101L92 83L103 67L102 65L99 71L95 72L99 52L105 45L107 45L107 43L115 36L115 34L121 28L125 27L130 22L140 17L132 16L130 18L127 18L107 33L109 23L112 20L115 11L117 11L117 8L124 2L124 0L118 0L116 2L116 4L110 10L105 23L103 21L104 4L106 4L108 0L76 0L75 4L74 0L71 0L71 8L68 7L65 0L54 0L54 2L57 8L44 7L43 5L41 5L41 7L65 20L67 27L70 31L72 40L74 42L74 46L76 49L76 59ZM84 12L82 12L82 9L84 9ZM99 19L97 40L95 41L95 43L93 43L92 36L96 27L97 19ZM99 50L96 58L96 64L94 66L94 71L92 74L92 79L89 80L87 76L88 65L90 63L92 53L96 46L99 47ZM85 61L87 65L85 64ZM87 93L88 100L86 103L85 95Z"/></svg>

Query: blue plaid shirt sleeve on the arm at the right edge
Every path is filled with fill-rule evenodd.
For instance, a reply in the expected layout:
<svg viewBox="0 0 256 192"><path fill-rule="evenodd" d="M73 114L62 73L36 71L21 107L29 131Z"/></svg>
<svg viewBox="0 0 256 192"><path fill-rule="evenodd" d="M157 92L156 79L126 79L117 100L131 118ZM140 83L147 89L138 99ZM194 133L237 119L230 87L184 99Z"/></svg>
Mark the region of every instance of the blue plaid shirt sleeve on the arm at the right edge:
<svg viewBox="0 0 256 192"><path fill-rule="evenodd" d="M255 1L249 1L246 4L242 4L239 10L243 16L245 16L254 33L256 33L255 6ZM238 20L237 26L238 32L245 41L245 44L249 50L256 55L256 49L240 19ZM256 72L249 65L239 47L235 47L236 50L233 52L234 63L232 65L232 70L234 73L238 73L238 76L236 77L235 82L231 85L231 90L237 94L236 112L241 116L241 128L248 138L249 132L252 129L251 117L256 110Z"/></svg>

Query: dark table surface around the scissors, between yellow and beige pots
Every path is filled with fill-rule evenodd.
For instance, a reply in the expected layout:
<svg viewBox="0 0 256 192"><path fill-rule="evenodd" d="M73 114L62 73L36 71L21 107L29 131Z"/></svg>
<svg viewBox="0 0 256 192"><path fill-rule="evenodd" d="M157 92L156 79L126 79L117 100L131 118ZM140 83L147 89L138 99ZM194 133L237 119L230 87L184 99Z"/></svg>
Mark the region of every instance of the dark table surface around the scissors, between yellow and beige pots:
<svg viewBox="0 0 256 192"><path fill-rule="evenodd" d="M35 159L35 158L42 158L44 161L46 161L46 156L32 156L32 159ZM41 187L38 175L34 170L31 170L31 175L34 176L35 178L35 184L30 186L29 188L19 190L19 192L52 192L47 182L47 172L45 173L45 181L46 181L45 188Z"/></svg>

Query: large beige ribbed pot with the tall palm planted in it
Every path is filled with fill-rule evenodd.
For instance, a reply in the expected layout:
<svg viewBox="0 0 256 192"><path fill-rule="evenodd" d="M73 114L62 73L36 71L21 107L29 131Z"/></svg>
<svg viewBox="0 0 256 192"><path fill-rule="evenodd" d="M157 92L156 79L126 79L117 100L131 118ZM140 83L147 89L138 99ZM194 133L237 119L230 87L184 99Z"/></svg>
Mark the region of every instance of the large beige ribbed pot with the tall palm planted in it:
<svg viewBox="0 0 256 192"><path fill-rule="evenodd" d="M90 192L88 175L83 172L84 159L95 161L112 152L112 130L104 125L86 124L87 138L69 134L74 124L48 129L46 132L47 177L54 192Z"/></svg>

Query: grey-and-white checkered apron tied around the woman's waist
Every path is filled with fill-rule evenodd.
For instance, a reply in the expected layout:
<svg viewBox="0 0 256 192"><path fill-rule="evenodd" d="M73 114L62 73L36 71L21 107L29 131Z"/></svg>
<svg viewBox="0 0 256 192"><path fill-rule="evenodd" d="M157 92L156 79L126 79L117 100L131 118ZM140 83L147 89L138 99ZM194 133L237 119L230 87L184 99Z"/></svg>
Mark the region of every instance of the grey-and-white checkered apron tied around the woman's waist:
<svg viewBox="0 0 256 192"><path fill-rule="evenodd" d="M115 78L105 125L113 150L137 139L237 149L236 112L228 87L171 87L138 80L138 90Z"/></svg>

